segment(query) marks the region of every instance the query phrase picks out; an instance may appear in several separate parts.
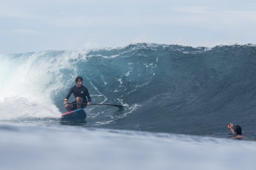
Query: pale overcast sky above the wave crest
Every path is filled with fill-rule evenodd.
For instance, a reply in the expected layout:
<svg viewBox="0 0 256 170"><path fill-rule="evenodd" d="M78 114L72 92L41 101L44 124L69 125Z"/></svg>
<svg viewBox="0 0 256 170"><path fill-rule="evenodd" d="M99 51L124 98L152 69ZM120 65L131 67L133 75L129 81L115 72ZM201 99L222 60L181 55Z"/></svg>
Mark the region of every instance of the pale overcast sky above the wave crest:
<svg viewBox="0 0 256 170"><path fill-rule="evenodd" d="M256 0L0 0L0 54L256 44Z"/></svg>

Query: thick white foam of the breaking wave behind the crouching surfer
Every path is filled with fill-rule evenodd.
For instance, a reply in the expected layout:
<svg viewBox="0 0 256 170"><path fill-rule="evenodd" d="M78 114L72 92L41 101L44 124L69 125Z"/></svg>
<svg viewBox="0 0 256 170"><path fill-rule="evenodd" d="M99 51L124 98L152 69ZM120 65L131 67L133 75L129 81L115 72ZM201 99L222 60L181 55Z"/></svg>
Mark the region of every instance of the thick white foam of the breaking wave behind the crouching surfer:
<svg viewBox="0 0 256 170"><path fill-rule="evenodd" d="M5 110L0 120L58 117L59 109L52 100L54 91L67 88L69 81L74 81L77 70L69 61L80 60L85 60L85 55L76 51L0 55L0 110ZM68 75L72 79L63 77L62 69L73 70L74 74Z"/></svg>

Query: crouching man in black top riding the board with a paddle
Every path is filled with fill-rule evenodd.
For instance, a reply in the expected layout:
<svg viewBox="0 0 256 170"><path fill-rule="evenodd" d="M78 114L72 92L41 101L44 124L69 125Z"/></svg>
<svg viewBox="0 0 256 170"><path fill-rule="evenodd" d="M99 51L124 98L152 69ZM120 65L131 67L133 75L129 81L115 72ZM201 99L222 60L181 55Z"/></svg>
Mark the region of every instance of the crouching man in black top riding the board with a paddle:
<svg viewBox="0 0 256 170"><path fill-rule="evenodd" d="M69 89L69 92L65 97L63 104L65 105L65 108L67 109L68 112L72 110L80 109L80 108L85 108L87 105L91 104L91 97L90 97L89 91L85 86L82 85L82 81L83 81L82 77L80 76L76 77L76 85L74 85ZM75 97L75 101L72 103L87 103L87 104L67 104L67 100L69 99L71 94L73 94ZM87 102L87 99L88 99L88 102Z"/></svg>

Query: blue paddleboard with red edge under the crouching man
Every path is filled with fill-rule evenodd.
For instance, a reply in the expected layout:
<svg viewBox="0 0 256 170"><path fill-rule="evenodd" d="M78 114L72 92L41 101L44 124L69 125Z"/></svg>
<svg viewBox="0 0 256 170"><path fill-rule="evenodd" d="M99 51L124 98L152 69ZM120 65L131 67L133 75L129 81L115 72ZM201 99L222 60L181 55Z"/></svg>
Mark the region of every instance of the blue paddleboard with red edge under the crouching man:
<svg viewBox="0 0 256 170"><path fill-rule="evenodd" d="M85 120L86 119L85 110L80 108L78 110L73 110L71 112L63 113L61 119L64 120Z"/></svg>

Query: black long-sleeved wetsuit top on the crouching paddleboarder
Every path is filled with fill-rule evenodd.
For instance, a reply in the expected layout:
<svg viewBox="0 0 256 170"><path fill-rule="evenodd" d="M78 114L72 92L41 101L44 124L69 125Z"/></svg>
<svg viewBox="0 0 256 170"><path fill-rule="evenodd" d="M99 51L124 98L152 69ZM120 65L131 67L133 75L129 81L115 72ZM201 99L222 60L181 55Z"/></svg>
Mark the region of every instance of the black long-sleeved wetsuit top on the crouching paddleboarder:
<svg viewBox="0 0 256 170"><path fill-rule="evenodd" d="M76 87L76 85L75 86L73 86L73 87L71 87L70 89L69 89L69 92L68 92L68 94L67 94L67 96L66 96L66 99L68 100L69 99L69 97L71 96L71 94L73 93L73 95L75 96L75 98L76 97L80 97L80 98L82 98L82 102L83 103L87 103L87 99L88 99L88 102L91 102L91 97L90 97L90 94L89 94L89 91L88 91L88 89L85 87L85 86L81 86L81 87ZM86 97L87 97L87 99L86 99Z"/></svg>

